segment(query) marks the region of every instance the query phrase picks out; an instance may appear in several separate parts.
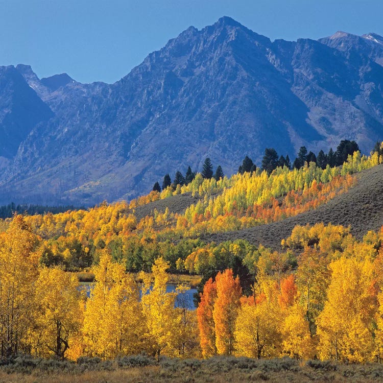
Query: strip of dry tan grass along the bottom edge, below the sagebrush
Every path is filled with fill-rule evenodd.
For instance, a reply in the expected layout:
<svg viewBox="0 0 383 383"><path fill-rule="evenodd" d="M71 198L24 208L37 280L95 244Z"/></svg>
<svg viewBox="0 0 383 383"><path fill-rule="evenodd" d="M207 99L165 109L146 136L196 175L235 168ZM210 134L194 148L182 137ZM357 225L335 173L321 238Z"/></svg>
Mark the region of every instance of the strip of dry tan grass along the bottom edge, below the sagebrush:
<svg viewBox="0 0 383 383"><path fill-rule="evenodd" d="M366 376L367 375L367 376ZM115 371L86 371L80 374L53 373L45 374L34 372L32 374L0 372L0 383L243 383L278 382L278 383L304 383L304 382L360 382L369 383L381 381L381 375L369 373L368 368L361 366L342 366L336 371L317 371L304 366L296 370L265 371L265 369L241 370L233 368L222 371L186 368L183 371L172 371L159 366L140 368L117 369Z"/></svg>

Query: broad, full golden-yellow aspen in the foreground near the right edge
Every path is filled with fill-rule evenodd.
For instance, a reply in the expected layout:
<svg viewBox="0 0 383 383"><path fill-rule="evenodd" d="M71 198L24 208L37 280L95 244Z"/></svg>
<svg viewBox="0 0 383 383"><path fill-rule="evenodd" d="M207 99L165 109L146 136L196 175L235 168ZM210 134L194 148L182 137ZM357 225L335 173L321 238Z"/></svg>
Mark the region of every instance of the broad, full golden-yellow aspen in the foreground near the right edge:
<svg viewBox="0 0 383 383"><path fill-rule="evenodd" d="M321 359L364 363L374 350L372 337L376 297L372 262L341 257L330 265L327 301L319 315L318 353Z"/></svg>

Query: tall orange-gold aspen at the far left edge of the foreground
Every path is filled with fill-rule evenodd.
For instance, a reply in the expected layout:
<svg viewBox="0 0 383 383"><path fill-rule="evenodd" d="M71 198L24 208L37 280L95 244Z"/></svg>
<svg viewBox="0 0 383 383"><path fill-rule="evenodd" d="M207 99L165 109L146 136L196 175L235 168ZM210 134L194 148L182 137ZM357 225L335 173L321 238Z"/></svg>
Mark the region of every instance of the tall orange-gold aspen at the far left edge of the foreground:
<svg viewBox="0 0 383 383"><path fill-rule="evenodd" d="M33 323L34 285L38 277L37 237L20 215L15 215L0 246L0 346L9 360L29 350L27 333Z"/></svg>

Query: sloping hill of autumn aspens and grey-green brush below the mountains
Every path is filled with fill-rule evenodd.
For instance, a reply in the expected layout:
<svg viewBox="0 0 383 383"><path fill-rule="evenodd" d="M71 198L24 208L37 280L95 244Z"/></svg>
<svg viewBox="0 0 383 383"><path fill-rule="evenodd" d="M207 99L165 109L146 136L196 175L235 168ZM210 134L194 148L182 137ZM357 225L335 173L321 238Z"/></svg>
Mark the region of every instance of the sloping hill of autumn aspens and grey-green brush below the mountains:
<svg viewBox="0 0 383 383"><path fill-rule="evenodd" d="M210 243L246 240L280 249L294 226L333 223L362 239L379 230L382 157L354 152L342 166L315 162L271 174L254 168L230 178L203 178L171 184L130 201L57 214L26 216L41 238L41 262L69 270L90 267L107 249L129 271L149 271L163 256L173 270ZM9 219L2 221L3 230ZM177 263L178 262L178 263Z"/></svg>

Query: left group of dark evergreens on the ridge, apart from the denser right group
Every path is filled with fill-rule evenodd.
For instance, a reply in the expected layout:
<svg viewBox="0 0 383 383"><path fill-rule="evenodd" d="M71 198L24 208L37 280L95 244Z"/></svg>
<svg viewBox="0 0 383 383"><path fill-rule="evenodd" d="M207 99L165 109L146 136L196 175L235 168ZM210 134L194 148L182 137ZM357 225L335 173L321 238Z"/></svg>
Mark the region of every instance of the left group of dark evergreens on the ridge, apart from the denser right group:
<svg viewBox="0 0 383 383"><path fill-rule="evenodd" d="M214 179L216 179L217 181L220 178L224 177L224 173L222 171L221 165L217 166L216 173L213 172L213 164L211 163L211 160L209 157L207 157L205 159L205 162L203 163L201 175L203 178L206 178L206 179L210 179L214 177ZM172 186L173 189L176 189L177 185L181 185L181 186L187 185L190 182L192 182L195 177L196 177L196 172L193 172L190 166L188 166L187 168L185 177L180 171L177 171L176 175L174 176L173 182L172 182L172 179L170 178L169 173L167 173L163 177L162 190L166 189L166 187L169 187L169 186ZM154 184L153 190L155 192L161 192L161 186L158 181Z"/></svg>

